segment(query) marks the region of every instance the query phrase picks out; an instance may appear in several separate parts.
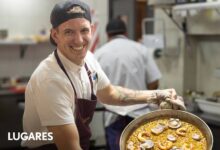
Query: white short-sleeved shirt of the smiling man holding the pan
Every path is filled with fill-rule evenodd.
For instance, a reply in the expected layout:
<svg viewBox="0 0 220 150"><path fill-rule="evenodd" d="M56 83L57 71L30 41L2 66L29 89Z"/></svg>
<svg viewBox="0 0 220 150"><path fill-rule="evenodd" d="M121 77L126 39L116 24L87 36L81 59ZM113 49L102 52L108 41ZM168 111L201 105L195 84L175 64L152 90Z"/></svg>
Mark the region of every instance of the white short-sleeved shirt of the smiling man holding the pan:
<svg viewBox="0 0 220 150"><path fill-rule="evenodd" d="M58 50L76 89L77 98L91 99L91 86L86 69L68 60ZM110 84L99 63L91 52L87 52L85 62L94 75L94 94ZM96 77L97 75L97 77ZM25 92L23 116L24 132L48 132L46 126L64 125L74 122L75 95L70 81L59 67L54 53L43 60L28 82ZM22 141L22 146L38 147L52 141Z"/></svg>

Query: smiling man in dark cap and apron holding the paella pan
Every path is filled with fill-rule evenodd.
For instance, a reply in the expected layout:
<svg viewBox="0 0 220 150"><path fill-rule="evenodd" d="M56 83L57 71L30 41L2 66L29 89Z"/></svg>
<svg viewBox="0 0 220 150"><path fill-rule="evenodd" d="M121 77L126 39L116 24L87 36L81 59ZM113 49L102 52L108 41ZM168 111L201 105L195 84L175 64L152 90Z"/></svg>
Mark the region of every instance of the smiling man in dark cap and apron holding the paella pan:
<svg viewBox="0 0 220 150"><path fill-rule="evenodd" d="M51 42L56 49L39 64L27 84L23 130L32 138L23 140L23 147L88 150L89 124L97 98L109 105L167 102L184 109L174 89L135 91L110 83L88 50L94 26L86 3L57 3L50 22Z"/></svg>

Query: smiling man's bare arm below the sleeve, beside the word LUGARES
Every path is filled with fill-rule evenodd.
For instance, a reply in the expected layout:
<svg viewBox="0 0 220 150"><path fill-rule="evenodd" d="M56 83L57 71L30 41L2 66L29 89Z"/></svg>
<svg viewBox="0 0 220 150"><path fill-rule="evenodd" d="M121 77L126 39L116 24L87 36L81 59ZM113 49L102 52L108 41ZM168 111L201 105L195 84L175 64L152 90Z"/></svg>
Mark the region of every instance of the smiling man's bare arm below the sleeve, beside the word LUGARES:
<svg viewBox="0 0 220 150"><path fill-rule="evenodd" d="M54 143L59 150L82 150L75 124L47 126L47 129L53 133Z"/></svg>

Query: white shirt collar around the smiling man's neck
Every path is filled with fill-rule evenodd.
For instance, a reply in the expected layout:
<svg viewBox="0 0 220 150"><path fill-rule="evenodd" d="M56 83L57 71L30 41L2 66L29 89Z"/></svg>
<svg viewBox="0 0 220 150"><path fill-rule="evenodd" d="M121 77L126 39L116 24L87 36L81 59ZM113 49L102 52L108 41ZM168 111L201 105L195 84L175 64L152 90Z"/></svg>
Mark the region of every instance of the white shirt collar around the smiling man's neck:
<svg viewBox="0 0 220 150"><path fill-rule="evenodd" d="M84 66L84 63L85 63L85 62L83 63L82 66L81 66L81 65L77 65L77 64L71 62L68 58L66 58L66 57L60 52L59 49L57 49L57 54L58 54L58 56L59 56L61 62L63 63L63 65L65 66L66 69L69 69L69 70L74 71L74 72L79 72L79 71L83 68L83 66Z"/></svg>

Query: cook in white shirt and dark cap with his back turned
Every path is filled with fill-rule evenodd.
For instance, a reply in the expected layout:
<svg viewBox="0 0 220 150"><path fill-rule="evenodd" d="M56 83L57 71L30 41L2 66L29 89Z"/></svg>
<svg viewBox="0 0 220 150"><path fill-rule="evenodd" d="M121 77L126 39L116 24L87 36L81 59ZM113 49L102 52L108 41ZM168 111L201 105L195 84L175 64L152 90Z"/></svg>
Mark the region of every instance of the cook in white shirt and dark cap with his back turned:
<svg viewBox="0 0 220 150"><path fill-rule="evenodd" d="M138 42L127 38L124 21L118 17L110 20L106 26L108 43L95 52L95 56L112 84L134 90L155 90L159 86L161 73L149 50ZM129 113L139 111L148 105L134 105L122 108L105 105L105 133L110 150L119 150L120 135L124 128L133 120ZM140 110L139 110L140 109ZM127 115L120 115L126 110Z"/></svg>

